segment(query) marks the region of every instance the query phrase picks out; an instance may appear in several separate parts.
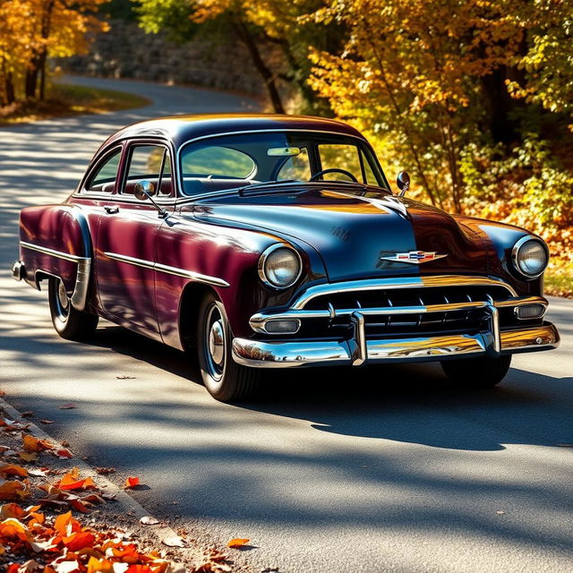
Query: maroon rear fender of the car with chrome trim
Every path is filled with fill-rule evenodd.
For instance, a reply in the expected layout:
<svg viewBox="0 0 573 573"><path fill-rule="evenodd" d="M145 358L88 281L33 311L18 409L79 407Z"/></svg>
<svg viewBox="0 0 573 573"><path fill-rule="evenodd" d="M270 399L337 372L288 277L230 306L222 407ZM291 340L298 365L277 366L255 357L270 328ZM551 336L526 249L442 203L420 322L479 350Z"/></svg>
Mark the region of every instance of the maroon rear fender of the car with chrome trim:
<svg viewBox="0 0 573 573"><path fill-rule="evenodd" d="M92 245L88 219L76 205L28 207L20 215L20 260L24 280L58 277L73 307L82 311L90 286Z"/></svg>

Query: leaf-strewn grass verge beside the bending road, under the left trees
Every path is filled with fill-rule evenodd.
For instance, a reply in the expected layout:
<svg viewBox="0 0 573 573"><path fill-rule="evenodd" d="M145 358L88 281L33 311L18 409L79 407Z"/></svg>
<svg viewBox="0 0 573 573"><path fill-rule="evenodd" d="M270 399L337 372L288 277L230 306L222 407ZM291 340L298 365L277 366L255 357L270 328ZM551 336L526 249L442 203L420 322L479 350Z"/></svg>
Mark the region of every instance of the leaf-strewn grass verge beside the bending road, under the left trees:
<svg viewBox="0 0 573 573"><path fill-rule="evenodd" d="M101 114L147 106L149 99L114 90L98 90L66 83L49 86L44 101L18 101L0 107L0 125L24 124L64 115Z"/></svg>

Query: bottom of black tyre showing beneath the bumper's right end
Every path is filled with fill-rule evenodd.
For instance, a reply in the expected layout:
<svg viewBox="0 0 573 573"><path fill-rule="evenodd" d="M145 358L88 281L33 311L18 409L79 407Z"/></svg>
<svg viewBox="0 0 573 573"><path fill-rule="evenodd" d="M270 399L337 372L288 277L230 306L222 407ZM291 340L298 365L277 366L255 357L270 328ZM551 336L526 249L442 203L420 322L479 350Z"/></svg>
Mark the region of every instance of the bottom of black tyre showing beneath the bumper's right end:
<svg viewBox="0 0 573 573"><path fill-rule="evenodd" d="M499 384L509 371L511 355L498 357L480 356L444 360L441 368L448 379L460 386L471 388L491 388Z"/></svg>

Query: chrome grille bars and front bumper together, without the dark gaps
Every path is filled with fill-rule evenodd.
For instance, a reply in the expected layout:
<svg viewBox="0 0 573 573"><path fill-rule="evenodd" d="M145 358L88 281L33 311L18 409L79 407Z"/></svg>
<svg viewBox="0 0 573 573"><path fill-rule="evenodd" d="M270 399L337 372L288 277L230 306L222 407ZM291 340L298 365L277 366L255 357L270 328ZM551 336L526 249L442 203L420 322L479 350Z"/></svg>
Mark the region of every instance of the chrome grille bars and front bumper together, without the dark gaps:
<svg viewBox="0 0 573 573"><path fill-rule="evenodd" d="M444 304L424 304L423 296L427 289L440 292L440 289L451 286L466 291L470 287L497 287L504 289L507 298L493 300L487 295L486 300L473 300L469 295L463 302L450 302L444 296ZM360 294L372 291L386 293L400 289L415 289L420 294L420 304L335 308L332 304L316 306L310 304L317 297L332 294ZM383 302L385 297L381 297ZM250 338L235 338L233 340L233 358L235 362L246 366L262 368L286 368L296 366L329 366L347 364L359 366L363 363L383 362L426 362L445 360L448 358L475 355L503 355L517 352L533 352L549 350L559 346L560 337L551 322L543 322L541 326L517 324L510 329L500 327L500 312L520 306L541 305L543 312L547 308L547 300L542 296L518 296L509 283L500 278L481 276L428 276L406 278L379 278L347 281L342 283L322 283L310 286L295 298L287 309L268 309L257 312L251 317L250 325L254 332L269 337L267 330L270 321L302 321L339 320L345 319L353 327L353 334L346 339L301 339L293 337L282 339L256 340ZM483 312L486 319L483 326L473 329L470 333L444 332L443 335L416 336L415 332L408 336L391 337L390 335L366 336L365 322L371 317L389 316L423 316L443 312ZM541 316L543 316L543 312Z"/></svg>

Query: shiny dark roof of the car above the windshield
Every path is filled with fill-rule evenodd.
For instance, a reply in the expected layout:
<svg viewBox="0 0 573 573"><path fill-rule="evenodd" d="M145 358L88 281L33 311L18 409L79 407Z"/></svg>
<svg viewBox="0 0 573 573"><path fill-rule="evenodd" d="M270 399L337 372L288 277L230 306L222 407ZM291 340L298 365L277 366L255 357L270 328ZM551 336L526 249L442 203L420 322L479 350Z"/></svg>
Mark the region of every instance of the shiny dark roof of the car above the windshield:
<svg viewBox="0 0 573 573"><path fill-rule="evenodd" d="M310 115L277 114L193 114L159 117L128 125L114 133L102 147L134 137L165 137L179 147L186 141L223 133L301 130L335 132L364 139L354 127L334 119Z"/></svg>

